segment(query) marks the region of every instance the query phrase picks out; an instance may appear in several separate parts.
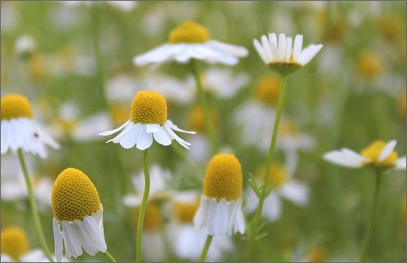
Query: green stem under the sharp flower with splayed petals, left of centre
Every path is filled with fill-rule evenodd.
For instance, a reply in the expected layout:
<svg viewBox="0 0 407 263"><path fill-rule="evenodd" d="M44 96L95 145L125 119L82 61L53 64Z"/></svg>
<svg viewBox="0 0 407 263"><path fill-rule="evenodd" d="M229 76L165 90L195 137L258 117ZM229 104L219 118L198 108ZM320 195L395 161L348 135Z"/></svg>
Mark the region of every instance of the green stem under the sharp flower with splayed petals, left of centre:
<svg viewBox="0 0 407 263"><path fill-rule="evenodd" d="M140 206L140 213L138 214L138 224L137 224L137 259L136 262L142 262L142 234L143 234L143 222L144 214L146 212L146 205L148 199L148 193L150 192L150 172L148 172L148 149L143 152L144 161L144 194L142 199L142 205Z"/></svg>

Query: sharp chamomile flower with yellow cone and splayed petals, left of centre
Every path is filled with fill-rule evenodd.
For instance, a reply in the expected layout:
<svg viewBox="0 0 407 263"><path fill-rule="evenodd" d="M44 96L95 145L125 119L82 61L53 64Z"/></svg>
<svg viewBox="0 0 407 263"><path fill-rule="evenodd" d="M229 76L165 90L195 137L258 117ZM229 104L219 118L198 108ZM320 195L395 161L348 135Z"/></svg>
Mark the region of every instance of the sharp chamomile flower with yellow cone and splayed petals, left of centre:
<svg viewBox="0 0 407 263"><path fill-rule="evenodd" d="M181 133L195 134L192 131L181 130L167 120L167 105L164 97L155 91L139 91L131 104L130 119L119 128L109 130L99 135L107 136L122 130L119 135L107 142L113 141L123 148L136 146L146 150L153 144L153 138L164 146L175 139L181 146L189 149L190 144L181 139L173 130Z"/></svg>

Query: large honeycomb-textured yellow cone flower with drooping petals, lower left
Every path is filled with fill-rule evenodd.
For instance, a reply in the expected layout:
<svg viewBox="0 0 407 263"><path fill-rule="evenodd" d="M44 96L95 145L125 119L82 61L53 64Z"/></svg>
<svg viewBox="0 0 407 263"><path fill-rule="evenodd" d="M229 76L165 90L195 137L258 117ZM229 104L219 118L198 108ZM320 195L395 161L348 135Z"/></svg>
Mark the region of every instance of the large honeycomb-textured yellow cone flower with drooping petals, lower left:
<svg viewBox="0 0 407 263"><path fill-rule="evenodd" d="M58 175L51 195L56 261L61 262L63 246L67 258L106 252L103 207L98 190L86 174L67 168Z"/></svg>

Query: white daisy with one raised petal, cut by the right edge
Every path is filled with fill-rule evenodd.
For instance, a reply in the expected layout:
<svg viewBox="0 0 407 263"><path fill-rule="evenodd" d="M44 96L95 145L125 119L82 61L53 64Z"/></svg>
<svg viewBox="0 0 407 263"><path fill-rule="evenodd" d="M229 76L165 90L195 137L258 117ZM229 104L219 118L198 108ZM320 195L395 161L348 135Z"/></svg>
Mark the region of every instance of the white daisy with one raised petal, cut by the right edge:
<svg viewBox="0 0 407 263"><path fill-rule="evenodd" d="M394 151L397 141L392 140L387 144L384 141L373 141L371 145L364 148L360 154L348 148L333 150L324 155L324 159L349 168L361 168L372 166L375 168L406 170L406 157L397 159Z"/></svg>

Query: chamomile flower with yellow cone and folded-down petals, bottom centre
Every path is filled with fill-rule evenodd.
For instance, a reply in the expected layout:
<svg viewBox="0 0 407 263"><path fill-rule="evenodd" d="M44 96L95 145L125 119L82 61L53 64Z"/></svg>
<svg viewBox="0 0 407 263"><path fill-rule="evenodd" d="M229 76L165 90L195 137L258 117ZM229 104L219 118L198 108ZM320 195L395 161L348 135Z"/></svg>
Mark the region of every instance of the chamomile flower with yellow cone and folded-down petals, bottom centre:
<svg viewBox="0 0 407 263"><path fill-rule="evenodd" d="M245 232L241 210L241 164L234 155L215 155L206 168L201 203L194 224L206 227L210 236L232 236Z"/></svg>

